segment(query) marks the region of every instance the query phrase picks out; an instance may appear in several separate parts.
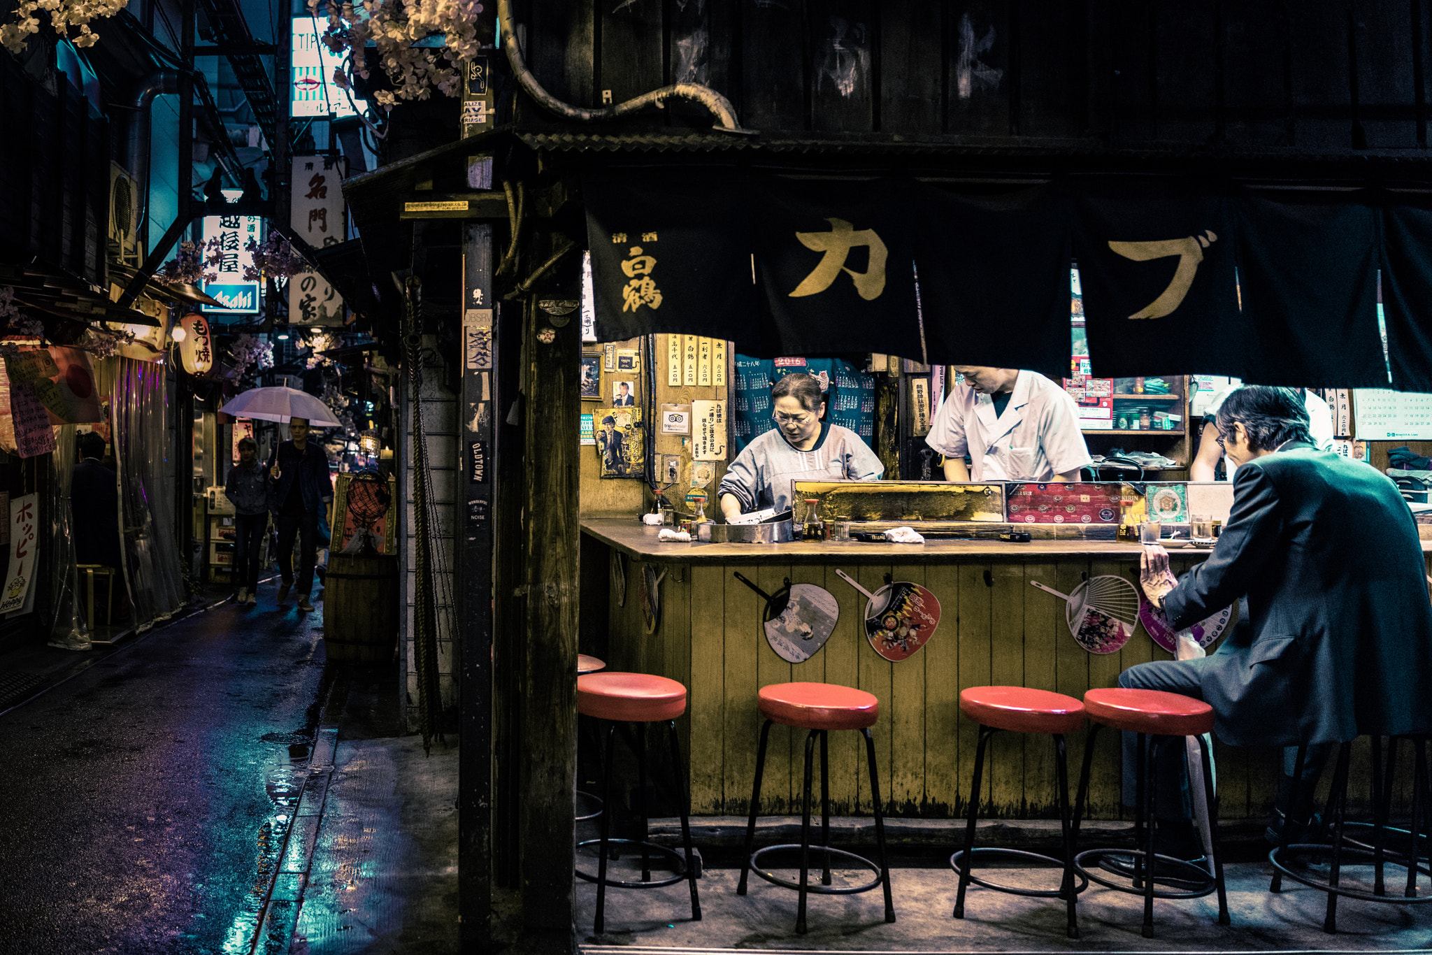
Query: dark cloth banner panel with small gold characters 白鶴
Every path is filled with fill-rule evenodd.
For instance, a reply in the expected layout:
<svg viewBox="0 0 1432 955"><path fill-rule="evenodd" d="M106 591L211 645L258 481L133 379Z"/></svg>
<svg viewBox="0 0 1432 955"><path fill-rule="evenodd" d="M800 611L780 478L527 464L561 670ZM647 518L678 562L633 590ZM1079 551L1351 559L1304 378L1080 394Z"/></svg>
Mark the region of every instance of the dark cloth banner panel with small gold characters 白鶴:
<svg viewBox="0 0 1432 955"><path fill-rule="evenodd" d="M581 190L597 341L729 339L750 325L756 294L737 180L589 172Z"/></svg>

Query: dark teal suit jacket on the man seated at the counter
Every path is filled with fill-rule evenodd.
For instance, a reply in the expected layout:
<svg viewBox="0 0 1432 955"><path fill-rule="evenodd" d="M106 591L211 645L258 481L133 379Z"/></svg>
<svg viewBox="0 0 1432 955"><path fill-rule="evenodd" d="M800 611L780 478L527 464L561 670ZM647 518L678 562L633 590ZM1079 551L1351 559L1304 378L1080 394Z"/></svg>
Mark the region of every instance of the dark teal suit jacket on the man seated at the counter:
<svg viewBox="0 0 1432 955"><path fill-rule="evenodd" d="M1237 470L1217 546L1164 598L1191 623L1247 597L1196 661L1216 733L1234 746L1432 730L1432 606L1396 485L1362 461L1290 444Z"/></svg>

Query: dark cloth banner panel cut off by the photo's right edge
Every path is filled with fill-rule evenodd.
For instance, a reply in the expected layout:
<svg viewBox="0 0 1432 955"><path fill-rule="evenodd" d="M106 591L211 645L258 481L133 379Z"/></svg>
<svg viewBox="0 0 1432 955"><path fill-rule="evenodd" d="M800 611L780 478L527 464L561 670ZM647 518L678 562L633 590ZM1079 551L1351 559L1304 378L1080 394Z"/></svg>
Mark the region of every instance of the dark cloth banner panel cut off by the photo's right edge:
<svg viewBox="0 0 1432 955"><path fill-rule="evenodd" d="M1382 309L1388 322L1392 388L1432 391L1432 209L1395 205L1382 210ZM1419 308L1421 306L1421 308Z"/></svg>

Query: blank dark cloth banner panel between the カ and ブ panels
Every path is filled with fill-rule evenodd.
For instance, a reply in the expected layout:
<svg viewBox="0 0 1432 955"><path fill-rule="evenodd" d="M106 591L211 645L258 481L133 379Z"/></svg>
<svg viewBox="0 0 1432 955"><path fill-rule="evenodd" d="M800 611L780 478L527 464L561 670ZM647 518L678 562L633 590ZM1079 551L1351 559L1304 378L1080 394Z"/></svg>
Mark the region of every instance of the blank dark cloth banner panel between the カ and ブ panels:
<svg viewBox="0 0 1432 955"><path fill-rule="evenodd" d="M909 213L928 361L1028 368L1055 381L1067 378L1070 235L1064 205L1048 189L974 198L918 186L914 193Z"/></svg>

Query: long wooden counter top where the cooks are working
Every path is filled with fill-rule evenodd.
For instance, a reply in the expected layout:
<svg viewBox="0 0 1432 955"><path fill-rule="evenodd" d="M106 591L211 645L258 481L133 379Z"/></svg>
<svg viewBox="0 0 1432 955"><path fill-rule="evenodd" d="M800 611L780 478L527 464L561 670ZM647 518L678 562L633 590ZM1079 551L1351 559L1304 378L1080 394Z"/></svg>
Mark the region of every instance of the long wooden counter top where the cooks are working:
<svg viewBox="0 0 1432 955"><path fill-rule="evenodd" d="M1141 550L1138 544L1087 540L1034 540L1027 544L997 540L932 540L924 544L865 544L861 541L682 544L656 540L662 530L659 527L646 527L636 520L617 517L583 518L581 530L630 557L677 560L692 564L739 564L768 558L782 564L826 564L832 561L909 564L957 563L968 558L1050 560L1058 557L1137 561ZM1170 553L1194 557L1206 556L1209 551L1184 547Z"/></svg>

